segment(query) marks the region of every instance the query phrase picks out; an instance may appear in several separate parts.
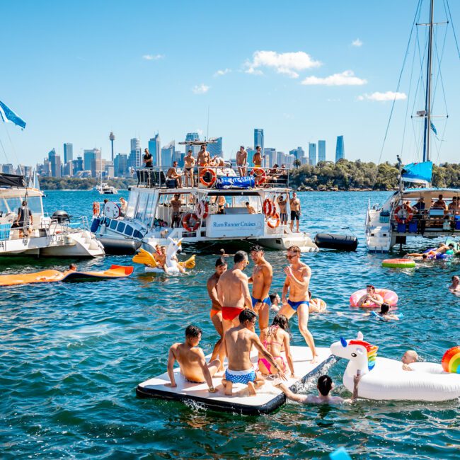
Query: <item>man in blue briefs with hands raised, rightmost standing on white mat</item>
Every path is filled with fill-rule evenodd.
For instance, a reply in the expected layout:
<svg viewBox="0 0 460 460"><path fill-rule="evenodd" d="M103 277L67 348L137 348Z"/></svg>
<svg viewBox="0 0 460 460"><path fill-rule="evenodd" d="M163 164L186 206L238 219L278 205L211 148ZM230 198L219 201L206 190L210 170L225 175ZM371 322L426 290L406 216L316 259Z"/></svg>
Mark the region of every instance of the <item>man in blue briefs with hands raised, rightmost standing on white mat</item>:
<svg viewBox="0 0 460 460"><path fill-rule="evenodd" d="M286 280L282 287L282 304L278 314L284 315L287 319L291 318L297 313L299 319L299 331L309 345L311 350L312 363L317 360L317 353L315 348L315 341L311 335L309 323L309 284L311 278L311 269L308 265L300 261L300 248L299 246L291 246L287 250L286 258L291 265L284 268L286 273ZM289 298L287 291L289 289Z"/></svg>

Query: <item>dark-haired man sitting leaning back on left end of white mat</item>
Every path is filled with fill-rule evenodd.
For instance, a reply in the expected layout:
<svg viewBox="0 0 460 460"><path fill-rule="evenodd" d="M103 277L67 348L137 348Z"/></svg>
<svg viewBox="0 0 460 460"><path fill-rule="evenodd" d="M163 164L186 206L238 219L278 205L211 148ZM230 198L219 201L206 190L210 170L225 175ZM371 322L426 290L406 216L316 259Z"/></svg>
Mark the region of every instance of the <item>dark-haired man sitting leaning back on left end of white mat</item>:
<svg viewBox="0 0 460 460"><path fill-rule="evenodd" d="M165 386L176 388L176 379L174 377L174 363L177 361L180 366L180 374L185 377L185 380L192 384L207 383L207 388L210 393L214 393L214 385L212 384L212 376L220 367L218 359L206 364L205 353L198 347L202 336L202 330L197 326L187 326L185 329L185 342L175 343L169 349L168 356L168 376L171 380Z"/></svg>

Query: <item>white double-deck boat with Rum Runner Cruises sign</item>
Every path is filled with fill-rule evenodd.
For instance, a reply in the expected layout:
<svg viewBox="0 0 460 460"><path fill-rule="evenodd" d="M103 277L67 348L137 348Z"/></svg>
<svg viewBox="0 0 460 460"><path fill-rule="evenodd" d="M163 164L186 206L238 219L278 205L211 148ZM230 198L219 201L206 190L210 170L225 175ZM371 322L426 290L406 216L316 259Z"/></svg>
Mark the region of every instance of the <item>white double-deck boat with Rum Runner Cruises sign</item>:
<svg viewBox="0 0 460 460"><path fill-rule="evenodd" d="M168 244L168 236L183 238L183 245L219 243L222 247L236 242L237 246L258 243L284 249L297 245L302 252L318 251L309 234L293 233L280 223L277 199L281 195L286 199L291 191L287 172L254 170L254 175L239 177L227 166L200 168L198 185L182 188L166 180L161 168L138 170L138 183L130 189L124 215L109 202L93 217L91 231L106 251L114 253L135 251L139 246L154 251L156 244ZM171 205L174 195L180 200L176 214Z"/></svg>

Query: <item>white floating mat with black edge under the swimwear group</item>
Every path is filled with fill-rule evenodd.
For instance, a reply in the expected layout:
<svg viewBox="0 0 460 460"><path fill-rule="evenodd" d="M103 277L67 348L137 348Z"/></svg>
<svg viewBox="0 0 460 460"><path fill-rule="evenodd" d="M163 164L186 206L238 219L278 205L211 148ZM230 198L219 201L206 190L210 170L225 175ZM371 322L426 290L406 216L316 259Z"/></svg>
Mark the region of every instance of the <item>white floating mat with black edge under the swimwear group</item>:
<svg viewBox="0 0 460 460"><path fill-rule="evenodd" d="M318 352L318 361L311 364L311 351L309 347L291 347L292 360L294 360L294 371L296 378L288 377L287 386L292 391L296 391L296 384L299 381L306 381L309 376L321 369L326 363L333 360L329 348L316 348ZM284 359L284 353L282 353ZM209 360L209 356L207 359ZM251 361L254 369L257 369L258 353L255 349L251 352ZM243 384L233 385L233 395L225 396L222 386L223 373L214 375L212 382L216 393L207 391L207 384L192 384L185 381L180 370L174 369L176 379L176 388L165 386L169 382L168 373L165 372L153 379L146 380L139 384L136 389L137 396L140 398L163 398L175 399L178 401L195 401L203 404L207 408L216 410L225 410L228 412L242 413L246 415L256 415L270 413L276 410L286 400L284 393L277 387L273 386L270 379L257 389L256 396L248 396L248 387Z"/></svg>

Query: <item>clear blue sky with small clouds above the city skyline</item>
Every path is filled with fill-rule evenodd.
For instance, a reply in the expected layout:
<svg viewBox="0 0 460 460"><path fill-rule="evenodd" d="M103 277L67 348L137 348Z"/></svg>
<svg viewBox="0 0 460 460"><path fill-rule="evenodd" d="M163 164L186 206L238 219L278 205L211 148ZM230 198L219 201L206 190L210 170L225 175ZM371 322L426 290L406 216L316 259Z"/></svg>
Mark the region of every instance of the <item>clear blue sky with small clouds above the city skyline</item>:
<svg viewBox="0 0 460 460"><path fill-rule="evenodd" d="M21 1L1 2L0 100L28 123L1 123L8 160L32 164L55 147L74 144L74 156L94 146L109 156L142 147L159 132L161 144L199 131L224 138L224 154L253 143L307 150L345 136L345 156L378 161L418 0L376 1ZM435 17L443 21L444 0ZM460 2L450 0L460 39ZM421 22L427 21L424 1ZM443 26L444 27L444 26ZM420 30L420 42L425 30ZM438 31L442 46L444 28ZM414 47L399 97L409 95ZM439 51L440 53L440 51ZM442 62L449 121L435 161L459 161L459 57L452 29ZM220 71L220 72L219 72ZM418 76L415 61L413 74ZM440 80L439 80L440 81ZM345 84L346 83L346 84ZM352 84L350 84L352 83ZM415 92L411 90L410 96ZM421 93L419 89L419 93ZM445 114L437 86L435 113ZM409 114L422 109L422 100ZM382 161L401 153L420 160L420 121L397 100ZM444 120L435 120L439 136ZM6 163L0 147L0 163Z"/></svg>

